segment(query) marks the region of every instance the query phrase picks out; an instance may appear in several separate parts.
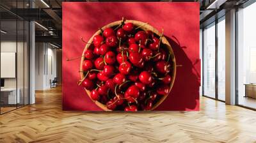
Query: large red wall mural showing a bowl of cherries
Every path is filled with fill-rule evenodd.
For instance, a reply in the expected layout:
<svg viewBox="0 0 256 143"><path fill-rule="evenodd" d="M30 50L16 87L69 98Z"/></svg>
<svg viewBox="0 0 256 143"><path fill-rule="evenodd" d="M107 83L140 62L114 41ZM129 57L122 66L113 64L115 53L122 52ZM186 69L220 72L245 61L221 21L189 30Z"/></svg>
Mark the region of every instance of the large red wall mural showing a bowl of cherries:
<svg viewBox="0 0 256 143"><path fill-rule="evenodd" d="M199 3L63 3L63 110L199 110Z"/></svg>

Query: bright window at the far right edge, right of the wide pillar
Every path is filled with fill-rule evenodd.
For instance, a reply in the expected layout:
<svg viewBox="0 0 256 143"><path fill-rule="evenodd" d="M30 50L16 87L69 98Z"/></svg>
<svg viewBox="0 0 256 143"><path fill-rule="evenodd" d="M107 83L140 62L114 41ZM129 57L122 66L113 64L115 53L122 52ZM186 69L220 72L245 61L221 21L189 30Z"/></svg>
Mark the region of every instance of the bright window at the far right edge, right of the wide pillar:
<svg viewBox="0 0 256 143"><path fill-rule="evenodd" d="M256 109L256 3L237 11L237 103Z"/></svg>

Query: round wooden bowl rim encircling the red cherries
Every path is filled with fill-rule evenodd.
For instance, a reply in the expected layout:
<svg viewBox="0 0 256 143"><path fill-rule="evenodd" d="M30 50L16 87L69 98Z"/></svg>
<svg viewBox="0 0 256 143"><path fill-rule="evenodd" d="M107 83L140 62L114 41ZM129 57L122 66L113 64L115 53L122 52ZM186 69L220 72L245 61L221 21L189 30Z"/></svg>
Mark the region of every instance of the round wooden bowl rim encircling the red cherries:
<svg viewBox="0 0 256 143"><path fill-rule="evenodd" d="M158 36L161 36L162 33L160 33L159 31L157 31L157 29L155 29L154 27L150 26L149 24L146 24L145 22L141 22L141 21L138 21L138 20L125 20L125 22L132 22L132 24L134 24L134 26L138 27L138 26L141 26L140 29L143 29L144 31L146 30L150 30L152 31L153 33L157 34ZM101 29L104 30L106 29L107 27L115 27L115 26L118 26L122 23L122 20L118 20L118 21L115 21L115 22L112 22L110 24L107 24L106 26L103 26ZM97 34L100 34L101 31L100 29L93 34L93 36L97 35ZM88 43L86 44L86 46L84 47L84 50L83 50L83 54L84 55L84 52L86 51L86 49L88 49L88 47L90 47L90 43L92 43L92 40L93 40L93 36L90 38L90 40L88 41ZM175 80L175 77L176 77L176 61L175 61L175 56L174 56L174 53L173 53L173 50L172 50L172 46L170 45L170 43L168 42L168 40L163 36L162 40L161 40L161 47L164 46L166 47L166 49L169 50L170 52L170 60L172 60L172 72L171 72L171 75L172 75L172 82L170 83L170 91L172 91L172 87L173 87L173 83L174 83L174 80ZM84 78L84 73L83 73L83 61L84 61L84 56L81 57L81 64L80 64L80 76L81 76L81 79ZM91 96L90 96L90 91L84 89L86 91L86 93L88 94L88 96L90 97L90 99L92 100ZM168 93L168 95L170 94L170 91ZM165 98L168 96L163 96L162 98L160 98L160 100L157 101L157 103L154 104L154 106L152 107L151 110L154 110L156 109L156 107L158 107L164 100ZM99 106L102 110L105 110L105 111L111 111L109 110L106 105L98 102L98 101L95 101L95 100L92 100L92 102L94 102L97 106Z"/></svg>

